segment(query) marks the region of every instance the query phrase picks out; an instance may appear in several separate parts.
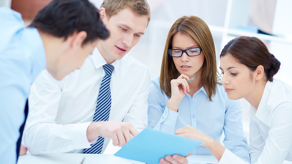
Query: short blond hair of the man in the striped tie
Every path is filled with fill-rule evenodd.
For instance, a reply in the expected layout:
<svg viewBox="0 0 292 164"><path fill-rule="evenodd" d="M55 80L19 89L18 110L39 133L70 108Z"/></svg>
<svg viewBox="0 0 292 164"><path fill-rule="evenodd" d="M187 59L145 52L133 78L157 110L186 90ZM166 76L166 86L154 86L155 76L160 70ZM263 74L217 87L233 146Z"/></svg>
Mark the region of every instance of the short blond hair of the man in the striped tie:
<svg viewBox="0 0 292 164"><path fill-rule="evenodd" d="M100 7L105 8L108 19L120 10L128 7L137 15L146 15L148 17L148 24L150 21L150 6L146 0L104 0Z"/></svg>

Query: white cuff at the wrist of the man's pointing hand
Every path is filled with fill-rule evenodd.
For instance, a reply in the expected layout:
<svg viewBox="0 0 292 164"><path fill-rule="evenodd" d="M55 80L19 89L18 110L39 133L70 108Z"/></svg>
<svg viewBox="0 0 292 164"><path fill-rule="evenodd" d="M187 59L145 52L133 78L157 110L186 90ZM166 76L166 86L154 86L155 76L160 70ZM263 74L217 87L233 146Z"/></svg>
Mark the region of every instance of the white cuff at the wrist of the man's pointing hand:
<svg viewBox="0 0 292 164"><path fill-rule="evenodd" d="M90 148L91 144L97 141L96 140L88 142L87 140L87 128L91 124L91 122L84 122L79 124L74 124L72 129L72 140L75 149L85 149Z"/></svg>

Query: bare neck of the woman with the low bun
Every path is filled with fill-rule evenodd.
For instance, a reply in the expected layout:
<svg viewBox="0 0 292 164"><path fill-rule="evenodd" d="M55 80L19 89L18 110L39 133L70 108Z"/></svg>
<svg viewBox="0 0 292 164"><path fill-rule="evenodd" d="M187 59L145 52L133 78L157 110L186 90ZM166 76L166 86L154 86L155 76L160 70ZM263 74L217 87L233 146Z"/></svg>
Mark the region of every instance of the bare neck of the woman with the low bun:
<svg viewBox="0 0 292 164"><path fill-rule="evenodd" d="M258 105L260 104L260 100L262 99L266 83L266 80L261 80L257 82L251 93L249 93L248 96L245 97L245 99L256 109L258 109Z"/></svg>

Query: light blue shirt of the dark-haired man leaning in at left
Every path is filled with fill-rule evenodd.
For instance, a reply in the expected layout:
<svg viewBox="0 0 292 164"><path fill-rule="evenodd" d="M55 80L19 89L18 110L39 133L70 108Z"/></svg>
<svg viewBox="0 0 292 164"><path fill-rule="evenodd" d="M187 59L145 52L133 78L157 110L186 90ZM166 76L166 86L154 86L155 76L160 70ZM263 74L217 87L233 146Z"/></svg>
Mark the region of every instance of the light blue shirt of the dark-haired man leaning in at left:
<svg viewBox="0 0 292 164"><path fill-rule="evenodd" d="M16 142L24 121L29 86L46 67L36 28L25 28L20 13L0 8L0 163L16 163Z"/></svg>

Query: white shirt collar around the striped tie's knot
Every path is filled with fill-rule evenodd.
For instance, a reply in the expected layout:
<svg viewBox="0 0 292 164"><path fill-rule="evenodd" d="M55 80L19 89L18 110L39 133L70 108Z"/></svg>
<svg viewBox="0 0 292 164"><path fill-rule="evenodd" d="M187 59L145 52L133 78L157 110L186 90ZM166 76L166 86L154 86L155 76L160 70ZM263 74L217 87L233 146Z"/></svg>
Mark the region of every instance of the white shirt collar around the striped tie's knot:
<svg viewBox="0 0 292 164"><path fill-rule="evenodd" d="M92 52L91 59L92 59L94 65L95 65L95 68L100 68L103 65L107 64L107 62L102 57L102 55L100 54L100 52L98 51L98 49L96 47L94 48L94 50ZM120 59L120 60L122 60L122 59ZM115 73L117 72L117 69L119 67L120 60L115 60L111 64L112 66L114 66L114 72Z"/></svg>

